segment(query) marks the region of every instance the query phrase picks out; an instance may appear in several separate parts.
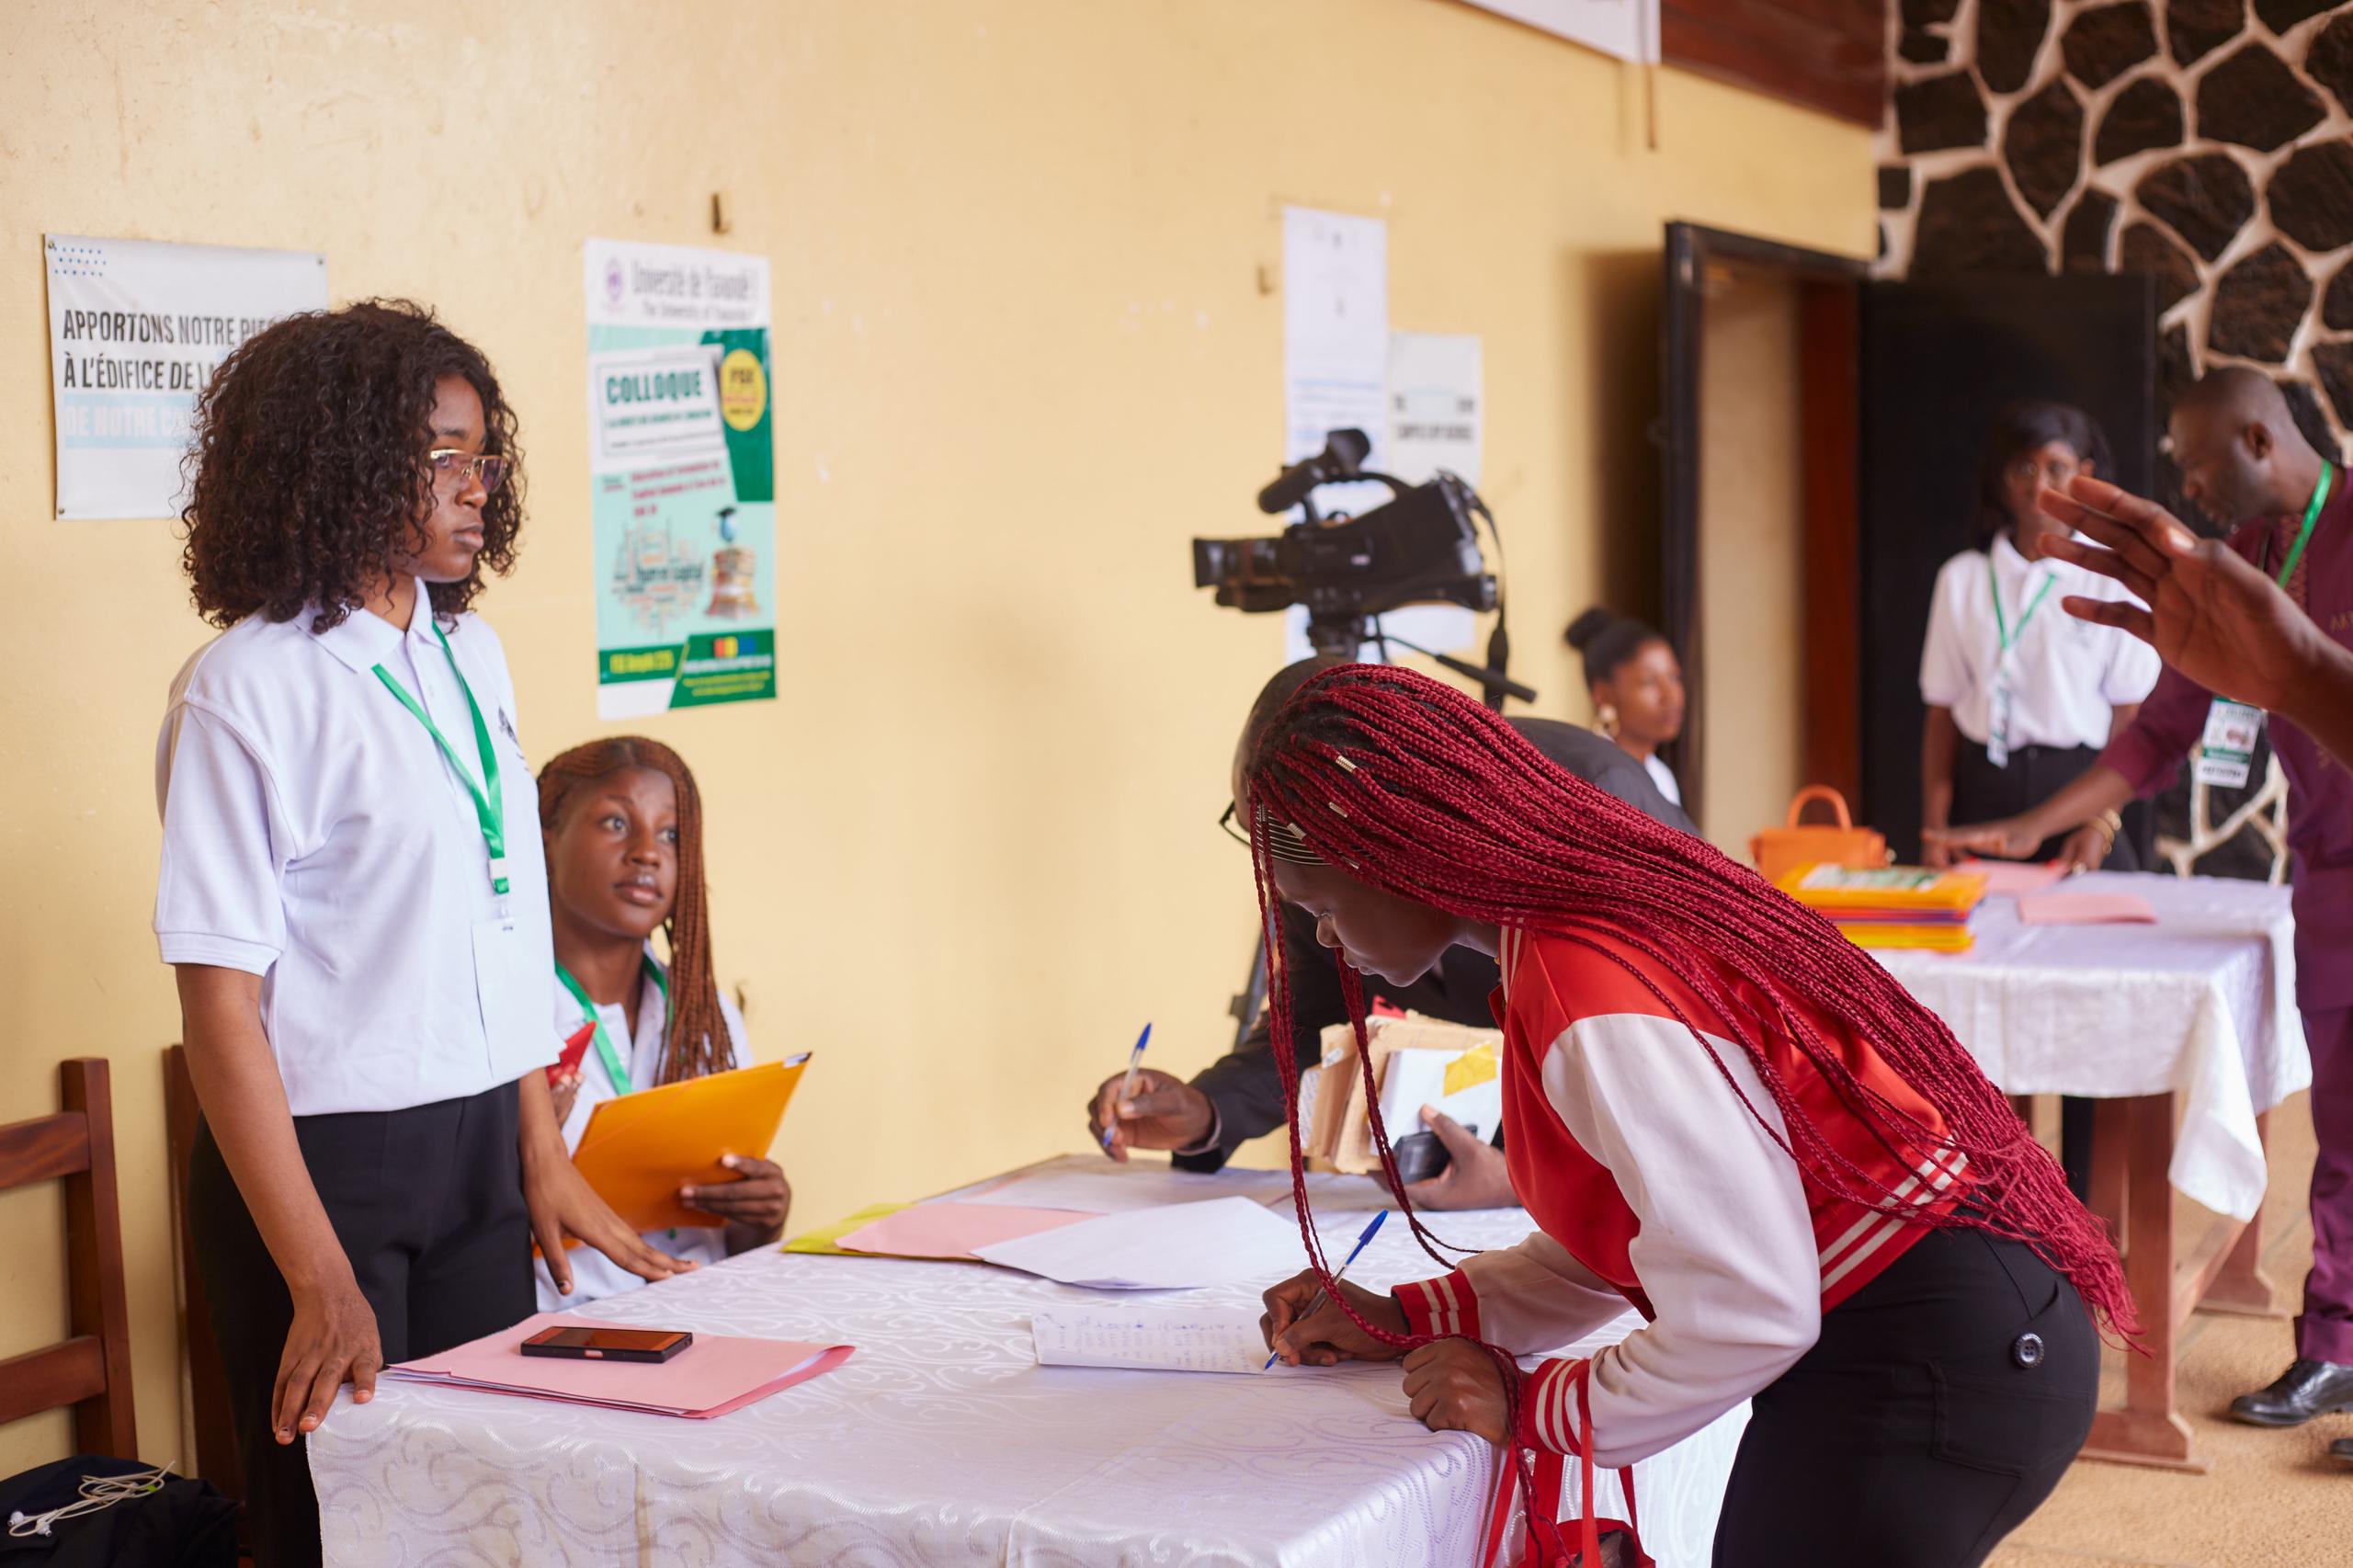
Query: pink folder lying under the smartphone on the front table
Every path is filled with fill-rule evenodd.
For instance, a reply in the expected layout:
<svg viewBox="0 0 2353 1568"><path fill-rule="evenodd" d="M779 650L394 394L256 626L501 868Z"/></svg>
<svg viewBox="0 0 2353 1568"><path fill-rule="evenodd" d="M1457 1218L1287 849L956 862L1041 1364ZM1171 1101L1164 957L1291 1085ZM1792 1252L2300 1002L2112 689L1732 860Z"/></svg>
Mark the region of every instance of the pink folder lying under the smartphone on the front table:
<svg viewBox="0 0 2353 1568"><path fill-rule="evenodd" d="M567 1311L541 1311L471 1344L384 1368L386 1377L438 1382L522 1398L553 1398L607 1410L682 1415L711 1420L781 1394L795 1382L821 1377L849 1361L849 1344L802 1344L800 1340L734 1340L694 1335L694 1344L668 1361L572 1361L525 1356L522 1342L541 1328L659 1328L654 1323L605 1323Z"/></svg>

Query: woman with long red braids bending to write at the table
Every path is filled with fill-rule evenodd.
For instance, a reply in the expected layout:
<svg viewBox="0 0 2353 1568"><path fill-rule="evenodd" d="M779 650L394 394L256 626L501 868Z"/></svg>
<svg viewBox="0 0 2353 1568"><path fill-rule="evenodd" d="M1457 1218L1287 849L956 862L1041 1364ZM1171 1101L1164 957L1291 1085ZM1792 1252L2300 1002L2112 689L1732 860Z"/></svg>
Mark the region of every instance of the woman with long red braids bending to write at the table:
<svg viewBox="0 0 2353 1568"><path fill-rule="evenodd" d="M1741 1568L1962 1568L2042 1502L2092 1424L2092 1314L2132 1335L2132 1300L1887 970L1412 671L1261 697L1235 763L1268 937L1278 902L1313 913L1351 1010L1360 972L1501 965L1504 1147L1539 1224L1454 1264L1407 1208L1449 1271L1393 1295L1334 1285L1304 1224L1313 1267L1266 1293L1285 1361L1402 1358L1412 1413L1511 1443L1544 1521L1572 1457L1626 1467L1748 1398L1715 1535ZM1621 1344L1518 1370L1628 1304ZM1546 1526L1529 1559L1560 1552Z"/></svg>

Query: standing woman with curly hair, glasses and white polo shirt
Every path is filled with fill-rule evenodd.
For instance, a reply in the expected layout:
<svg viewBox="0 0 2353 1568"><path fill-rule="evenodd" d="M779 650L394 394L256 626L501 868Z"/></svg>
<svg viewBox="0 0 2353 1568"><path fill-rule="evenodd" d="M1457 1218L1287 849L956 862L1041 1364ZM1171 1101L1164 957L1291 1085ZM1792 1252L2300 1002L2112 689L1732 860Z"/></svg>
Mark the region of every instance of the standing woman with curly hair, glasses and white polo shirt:
<svg viewBox="0 0 2353 1568"><path fill-rule="evenodd" d="M318 1563L348 1380L532 1311L532 1241L661 1278L546 1076L548 885L499 638L515 417L431 311L296 315L198 407L195 607L155 753L155 935L205 1107L188 1208L261 1568Z"/></svg>

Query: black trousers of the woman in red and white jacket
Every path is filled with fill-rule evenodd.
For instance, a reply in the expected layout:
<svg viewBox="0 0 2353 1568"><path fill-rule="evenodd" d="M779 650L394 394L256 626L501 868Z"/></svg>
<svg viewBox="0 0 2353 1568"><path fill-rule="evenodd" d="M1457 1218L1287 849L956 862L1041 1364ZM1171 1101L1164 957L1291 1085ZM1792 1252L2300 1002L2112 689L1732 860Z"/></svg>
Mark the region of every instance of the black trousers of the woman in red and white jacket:
<svg viewBox="0 0 2353 1568"><path fill-rule="evenodd" d="M1751 1401L1715 1568L1974 1568L2092 1431L2099 1335L2031 1248L1927 1231Z"/></svg>

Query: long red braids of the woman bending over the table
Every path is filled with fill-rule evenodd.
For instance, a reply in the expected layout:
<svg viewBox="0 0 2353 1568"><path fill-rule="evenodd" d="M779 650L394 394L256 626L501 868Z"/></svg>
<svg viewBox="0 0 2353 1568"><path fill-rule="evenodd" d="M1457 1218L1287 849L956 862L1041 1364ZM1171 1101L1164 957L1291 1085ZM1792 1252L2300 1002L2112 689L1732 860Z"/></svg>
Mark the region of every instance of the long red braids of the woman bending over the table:
<svg viewBox="0 0 2353 1568"><path fill-rule="evenodd" d="M1405 669L1322 671L1245 746L1252 859L1268 939L1275 937L1275 892L1266 841L1271 824L1287 824L1318 857L1374 888L1609 958L1725 1071L1699 1024L1602 942L1614 939L1675 975L1722 1017L1774 1097L1786 1135L1753 1104L1751 1116L1812 1182L1908 1224L1972 1227L2024 1241L2075 1283L2118 1337L2129 1342L2139 1333L2115 1250L1953 1031L1826 918L1755 871L1574 779L1487 709ZM1280 979L1280 970L1273 975ZM1362 1041L1360 994L1351 991L1348 1001ZM1880 1062L1937 1107L1944 1130L1861 1083L1817 1017L1871 1041ZM1273 1055L1285 1064L1292 1041L1280 1001L1273 1026ZM1965 1156L1977 1180L1974 1203L1934 1212L1937 1191L1889 1189L1840 1154L1772 1067L1767 1038L1793 1045L1904 1165L1920 1149ZM1725 1081L1732 1083L1729 1071ZM1294 1069L1285 1071L1285 1095L1297 1109ZM1386 1156L1386 1137L1381 1144ZM1299 1184L1297 1116L1292 1168L1308 1260L1329 1283ZM1412 1205L1407 1220L1421 1236ZM1360 1328L1395 1342L1362 1321Z"/></svg>

